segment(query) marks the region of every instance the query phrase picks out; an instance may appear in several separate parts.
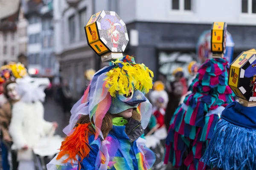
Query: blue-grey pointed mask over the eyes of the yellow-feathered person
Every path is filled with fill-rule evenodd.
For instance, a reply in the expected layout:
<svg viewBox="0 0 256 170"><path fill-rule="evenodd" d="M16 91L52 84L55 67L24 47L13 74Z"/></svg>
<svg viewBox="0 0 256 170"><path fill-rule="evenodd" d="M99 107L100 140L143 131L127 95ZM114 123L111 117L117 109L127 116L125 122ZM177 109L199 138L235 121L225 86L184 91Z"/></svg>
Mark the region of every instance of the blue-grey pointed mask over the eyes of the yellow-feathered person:
<svg viewBox="0 0 256 170"><path fill-rule="evenodd" d="M135 90L134 93L131 93L129 96L116 94L108 112L117 114L130 108L137 108L140 103L146 100L145 95L139 90Z"/></svg>

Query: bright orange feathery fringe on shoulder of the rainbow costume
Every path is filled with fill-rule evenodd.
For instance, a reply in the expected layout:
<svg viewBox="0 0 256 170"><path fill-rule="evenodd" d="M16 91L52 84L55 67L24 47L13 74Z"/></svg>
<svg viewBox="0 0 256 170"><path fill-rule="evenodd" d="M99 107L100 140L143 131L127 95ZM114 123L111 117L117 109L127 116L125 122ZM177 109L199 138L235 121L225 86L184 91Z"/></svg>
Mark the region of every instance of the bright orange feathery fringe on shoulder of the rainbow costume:
<svg viewBox="0 0 256 170"><path fill-rule="evenodd" d="M67 154L69 157L62 161L62 163L67 163L68 160L71 160L71 164L73 164L73 160L78 161L76 159L76 155L81 158L81 161L89 155L90 144L88 140L88 133L94 133L88 128L90 124L91 123L79 124L75 131L70 136L66 137L61 144L61 151L56 158L57 160L61 159L62 156ZM81 165L79 164L79 170L80 169Z"/></svg>

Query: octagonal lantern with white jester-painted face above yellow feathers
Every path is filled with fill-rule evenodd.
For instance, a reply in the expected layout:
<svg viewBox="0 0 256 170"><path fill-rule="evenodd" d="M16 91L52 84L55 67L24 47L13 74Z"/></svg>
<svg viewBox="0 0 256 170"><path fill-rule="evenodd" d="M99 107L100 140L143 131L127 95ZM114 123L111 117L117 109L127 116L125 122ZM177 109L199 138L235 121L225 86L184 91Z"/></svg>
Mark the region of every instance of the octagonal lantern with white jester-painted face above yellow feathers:
<svg viewBox="0 0 256 170"><path fill-rule="evenodd" d="M125 23L114 11L100 11L84 27L88 45L108 61L123 57L129 42Z"/></svg>

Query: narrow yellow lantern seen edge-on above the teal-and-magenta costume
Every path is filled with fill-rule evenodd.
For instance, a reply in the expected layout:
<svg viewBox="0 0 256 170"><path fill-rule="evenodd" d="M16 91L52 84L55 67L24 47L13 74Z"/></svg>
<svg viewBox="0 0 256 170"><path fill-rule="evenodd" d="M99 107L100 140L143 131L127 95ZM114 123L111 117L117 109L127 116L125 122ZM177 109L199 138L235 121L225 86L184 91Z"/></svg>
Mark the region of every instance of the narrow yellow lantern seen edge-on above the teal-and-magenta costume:
<svg viewBox="0 0 256 170"><path fill-rule="evenodd" d="M224 22L214 22L211 34L212 57L223 56L226 52L227 24Z"/></svg>

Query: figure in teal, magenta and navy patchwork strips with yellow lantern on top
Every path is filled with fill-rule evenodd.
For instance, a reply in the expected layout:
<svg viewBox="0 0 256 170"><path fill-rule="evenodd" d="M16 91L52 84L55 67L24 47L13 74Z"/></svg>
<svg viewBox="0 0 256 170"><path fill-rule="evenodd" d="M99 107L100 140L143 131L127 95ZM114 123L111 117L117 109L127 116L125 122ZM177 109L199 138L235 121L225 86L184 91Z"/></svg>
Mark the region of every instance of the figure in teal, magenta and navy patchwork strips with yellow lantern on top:
<svg viewBox="0 0 256 170"><path fill-rule="evenodd" d="M219 114L233 102L233 92L228 86L229 64L224 57L227 25L213 23L212 59L198 70L189 87L192 94L175 111L166 138L165 163L170 161L176 168L206 170L199 161L219 120Z"/></svg>

